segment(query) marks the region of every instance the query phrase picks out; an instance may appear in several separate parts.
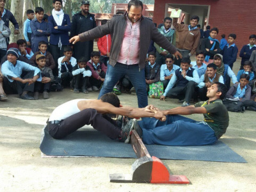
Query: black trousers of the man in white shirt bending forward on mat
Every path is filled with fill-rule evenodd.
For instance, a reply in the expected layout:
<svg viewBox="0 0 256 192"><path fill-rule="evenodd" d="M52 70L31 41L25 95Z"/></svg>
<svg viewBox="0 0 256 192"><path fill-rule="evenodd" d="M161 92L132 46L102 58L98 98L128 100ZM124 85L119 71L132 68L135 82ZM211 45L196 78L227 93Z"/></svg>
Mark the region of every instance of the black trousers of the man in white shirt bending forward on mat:
<svg viewBox="0 0 256 192"><path fill-rule="evenodd" d="M68 116L60 124L48 124L47 126L52 138L61 139L84 125L92 125L94 129L106 134L113 140L118 138L121 132L114 120L106 115L97 113L95 109L84 109L79 113Z"/></svg>

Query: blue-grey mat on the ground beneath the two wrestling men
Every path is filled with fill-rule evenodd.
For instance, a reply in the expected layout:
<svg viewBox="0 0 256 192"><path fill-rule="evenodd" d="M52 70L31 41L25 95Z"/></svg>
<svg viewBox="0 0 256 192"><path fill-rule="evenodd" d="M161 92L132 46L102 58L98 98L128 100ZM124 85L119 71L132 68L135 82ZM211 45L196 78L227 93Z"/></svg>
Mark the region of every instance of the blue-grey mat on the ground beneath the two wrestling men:
<svg viewBox="0 0 256 192"><path fill-rule="evenodd" d="M205 146L163 146L145 145L151 156L159 159L219 161L247 163L225 143L217 141L214 145ZM137 158L130 144L111 140L92 127L83 127L62 140L53 139L48 131L42 131L40 150L46 156L91 156Z"/></svg>

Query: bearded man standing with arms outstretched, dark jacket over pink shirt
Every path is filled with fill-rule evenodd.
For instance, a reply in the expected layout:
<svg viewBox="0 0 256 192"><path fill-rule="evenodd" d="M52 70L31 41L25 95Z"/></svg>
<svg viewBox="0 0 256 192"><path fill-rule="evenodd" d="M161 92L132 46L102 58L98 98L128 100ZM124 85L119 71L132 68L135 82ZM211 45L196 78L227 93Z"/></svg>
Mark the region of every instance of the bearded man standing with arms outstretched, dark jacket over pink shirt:
<svg viewBox="0 0 256 192"><path fill-rule="evenodd" d="M141 1L131 0L124 15L116 15L106 24L70 39L70 43L76 44L80 40L92 40L110 33L112 45L108 71L99 98L112 92L121 77L127 75L138 95L139 108L148 105L144 68L150 41L153 40L175 57L179 55L182 58L167 38L157 31L152 20L143 17L142 10Z"/></svg>

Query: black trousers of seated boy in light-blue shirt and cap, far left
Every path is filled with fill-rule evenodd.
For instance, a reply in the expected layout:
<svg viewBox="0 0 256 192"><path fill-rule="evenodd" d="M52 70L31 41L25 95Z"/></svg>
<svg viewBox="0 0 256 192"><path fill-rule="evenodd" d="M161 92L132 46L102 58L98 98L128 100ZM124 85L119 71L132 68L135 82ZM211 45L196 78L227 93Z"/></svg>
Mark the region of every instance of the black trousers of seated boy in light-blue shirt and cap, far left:
<svg viewBox="0 0 256 192"><path fill-rule="evenodd" d="M34 77L33 71L28 71L24 73L24 76L21 76L21 79L32 79ZM4 92L6 94L19 94L23 92L34 92L35 83L29 85L29 83L21 83L20 81L10 82L6 77L4 77L3 83Z"/></svg>

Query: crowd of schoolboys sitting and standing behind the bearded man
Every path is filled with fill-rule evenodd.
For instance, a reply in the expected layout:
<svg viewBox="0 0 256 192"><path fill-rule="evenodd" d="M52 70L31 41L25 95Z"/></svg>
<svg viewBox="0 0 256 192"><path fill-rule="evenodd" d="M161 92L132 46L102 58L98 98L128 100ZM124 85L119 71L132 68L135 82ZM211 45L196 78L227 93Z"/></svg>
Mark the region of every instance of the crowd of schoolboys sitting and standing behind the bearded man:
<svg viewBox="0 0 256 192"><path fill-rule="evenodd" d="M88 1L82 2L82 6L88 4ZM99 52L88 53L90 58L87 55L78 56L68 42L72 23L61 10L62 1L53 1L53 6L52 15L47 20L44 19L43 8L36 8L35 13L27 10L24 39L16 43L9 44L11 31L6 20L0 20L0 100L7 100L6 94L13 93L18 93L20 99L38 99L40 92L44 99L49 99L51 86L56 82L60 82L62 88L72 88L74 93L97 92L104 83L111 52L111 35L99 38ZM11 21L15 24L13 18ZM150 84L162 82L164 93L160 100L177 98L182 106L189 106L192 100L207 100L207 88L213 83L220 82L230 88L232 79L234 85L227 97L237 97L242 102L250 100L246 102L246 107L256 111L256 35L250 35L249 44L241 49L241 68L236 76L232 71L238 52L236 34L228 35L228 40L221 35L219 42L216 38L218 28L207 26L207 30L203 31L198 21L199 17L193 16L190 25L186 25L178 24L176 18L164 18L157 30L177 47L182 59L173 58L172 54L152 41L145 61L147 92ZM102 25L106 23L107 20L101 22ZM196 54L196 61L191 62L193 54ZM132 83L129 77L124 76L113 92L120 94L130 90Z"/></svg>

